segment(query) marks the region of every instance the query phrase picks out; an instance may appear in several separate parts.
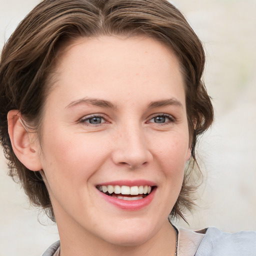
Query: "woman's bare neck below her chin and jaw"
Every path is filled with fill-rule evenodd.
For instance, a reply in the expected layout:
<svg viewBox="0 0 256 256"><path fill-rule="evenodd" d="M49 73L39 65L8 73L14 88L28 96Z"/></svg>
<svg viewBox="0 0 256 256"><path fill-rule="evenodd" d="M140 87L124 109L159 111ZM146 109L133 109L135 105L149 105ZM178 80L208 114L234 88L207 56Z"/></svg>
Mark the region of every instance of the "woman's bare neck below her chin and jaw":
<svg viewBox="0 0 256 256"><path fill-rule="evenodd" d="M59 228L61 256L96 256L96 255L123 255L123 256L171 256L175 255L176 234L166 219L161 229L154 236L135 245L119 245L109 243L86 232L70 232Z"/></svg>

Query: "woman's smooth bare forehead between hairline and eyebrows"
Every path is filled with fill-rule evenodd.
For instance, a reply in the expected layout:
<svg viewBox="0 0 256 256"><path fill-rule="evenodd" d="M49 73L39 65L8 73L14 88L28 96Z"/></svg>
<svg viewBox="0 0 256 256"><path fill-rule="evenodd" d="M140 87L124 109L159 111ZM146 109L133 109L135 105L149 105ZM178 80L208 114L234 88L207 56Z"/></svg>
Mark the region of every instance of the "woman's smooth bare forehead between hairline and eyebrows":
<svg viewBox="0 0 256 256"><path fill-rule="evenodd" d="M70 96L77 89L83 96L96 93L91 96L101 98L106 91L114 98L120 90L130 95L140 90L161 98L164 92L159 89L175 84L183 93L178 59L164 44L145 36L79 38L61 50L55 73L59 90L73 88Z"/></svg>

